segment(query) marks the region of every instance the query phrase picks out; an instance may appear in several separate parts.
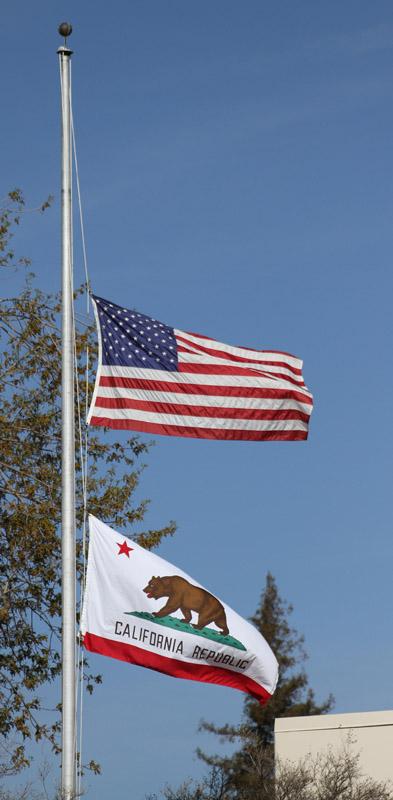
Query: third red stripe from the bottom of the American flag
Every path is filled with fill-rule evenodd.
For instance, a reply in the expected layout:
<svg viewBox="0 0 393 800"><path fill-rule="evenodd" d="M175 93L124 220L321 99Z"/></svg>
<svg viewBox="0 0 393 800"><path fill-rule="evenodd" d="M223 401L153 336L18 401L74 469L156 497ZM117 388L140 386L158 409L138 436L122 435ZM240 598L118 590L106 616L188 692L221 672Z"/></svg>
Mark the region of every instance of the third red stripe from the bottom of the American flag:
<svg viewBox="0 0 393 800"><path fill-rule="evenodd" d="M172 373L173 374L173 373ZM244 370L241 372L244 375ZM206 394L218 397L254 397L266 400L299 400L312 406L309 394L295 389L264 389L258 386L210 386L199 383L175 383L174 381L155 381L145 378L121 378L102 375L100 386L119 386L124 389L152 389L157 392L182 392L184 394Z"/></svg>

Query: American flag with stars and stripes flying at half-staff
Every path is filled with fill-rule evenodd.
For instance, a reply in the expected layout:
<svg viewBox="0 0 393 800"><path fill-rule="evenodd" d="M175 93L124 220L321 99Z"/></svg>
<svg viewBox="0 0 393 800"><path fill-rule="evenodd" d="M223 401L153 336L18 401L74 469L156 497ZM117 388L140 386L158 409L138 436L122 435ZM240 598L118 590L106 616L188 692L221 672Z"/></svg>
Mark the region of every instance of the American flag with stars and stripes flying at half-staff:
<svg viewBox="0 0 393 800"><path fill-rule="evenodd" d="M202 439L307 439L302 361L171 328L94 297L100 355L90 425Z"/></svg>

